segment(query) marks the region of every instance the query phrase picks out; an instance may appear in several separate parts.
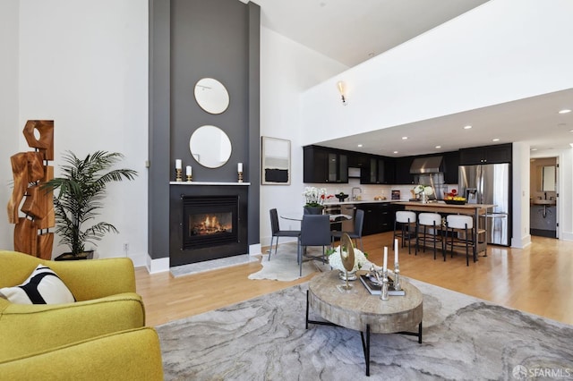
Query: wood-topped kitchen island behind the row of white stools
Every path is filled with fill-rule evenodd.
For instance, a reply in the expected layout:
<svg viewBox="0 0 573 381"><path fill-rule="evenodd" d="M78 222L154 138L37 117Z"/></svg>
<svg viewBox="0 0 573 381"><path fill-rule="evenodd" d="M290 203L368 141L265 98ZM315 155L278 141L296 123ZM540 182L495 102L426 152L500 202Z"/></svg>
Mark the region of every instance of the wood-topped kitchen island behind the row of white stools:
<svg viewBox="0 0 573 381"><path fill-rule="evenodd" d="M493 204L446 204L444 201L430 201L422 203L420 201L395 201L394 205L403 206L406 210L412 210L416 213L439 213L440 215L467 215L474 217L474 226L477 242L474 245L474 260L477 260L477 254L484 252L487 257L487 224L480 221L481 217L487 215L488 209L495 207ZM481 222L481 224L480 224Z"/></svg>

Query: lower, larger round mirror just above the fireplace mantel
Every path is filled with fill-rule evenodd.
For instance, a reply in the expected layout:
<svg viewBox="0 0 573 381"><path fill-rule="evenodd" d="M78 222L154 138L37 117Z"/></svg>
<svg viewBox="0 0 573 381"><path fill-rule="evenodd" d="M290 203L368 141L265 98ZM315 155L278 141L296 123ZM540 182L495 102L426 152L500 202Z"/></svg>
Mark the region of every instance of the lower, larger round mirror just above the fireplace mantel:
<svg viewBox="0 0 573 381"><path fill-rule="evenodd" d="M231 140L220 128L204 125L192 133L189 149L199 164L218 168L225 165L231 157Z"/></svg>

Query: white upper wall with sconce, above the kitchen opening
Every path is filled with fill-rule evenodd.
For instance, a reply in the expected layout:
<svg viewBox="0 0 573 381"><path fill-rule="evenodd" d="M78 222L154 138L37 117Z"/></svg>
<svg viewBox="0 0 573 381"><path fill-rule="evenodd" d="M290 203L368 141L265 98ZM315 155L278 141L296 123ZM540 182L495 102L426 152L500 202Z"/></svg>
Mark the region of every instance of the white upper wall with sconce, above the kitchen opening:
<svg viewBox="0 0 573 381"><path fill-rule="evenodd" d="M571 14L569 0L492 0L462 14L306 91L302 143L572 88Z"/></svg>

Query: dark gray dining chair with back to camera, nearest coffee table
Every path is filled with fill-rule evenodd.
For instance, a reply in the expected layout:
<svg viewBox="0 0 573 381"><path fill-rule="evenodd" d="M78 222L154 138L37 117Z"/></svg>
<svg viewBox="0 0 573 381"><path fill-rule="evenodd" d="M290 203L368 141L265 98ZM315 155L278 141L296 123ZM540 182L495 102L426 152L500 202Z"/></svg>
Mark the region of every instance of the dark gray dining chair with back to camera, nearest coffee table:
<svg viewBox="0 0 573 381"><path fill-rule="evenodd" d="M329 215L304 215L301 223L301 235L298 238L297 260L299 276L303 276L303 256L308 246L322 246L322 257L307 256L313 260L328 263L326 247L330 246Z"/></svg>

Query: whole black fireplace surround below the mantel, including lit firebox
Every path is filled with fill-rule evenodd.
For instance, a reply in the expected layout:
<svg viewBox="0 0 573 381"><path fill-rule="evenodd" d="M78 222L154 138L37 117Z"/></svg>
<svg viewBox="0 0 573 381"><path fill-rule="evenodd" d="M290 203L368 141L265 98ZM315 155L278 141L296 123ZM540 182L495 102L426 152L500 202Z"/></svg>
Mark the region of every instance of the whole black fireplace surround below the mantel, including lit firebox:
<svg viewBox="0 0 573 381"><path fill-rule="evenodd" d="M247 196L245 186L172 186L169 266L246 254Z"/></svg>

